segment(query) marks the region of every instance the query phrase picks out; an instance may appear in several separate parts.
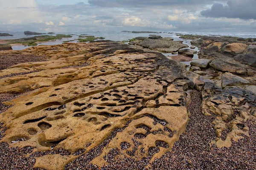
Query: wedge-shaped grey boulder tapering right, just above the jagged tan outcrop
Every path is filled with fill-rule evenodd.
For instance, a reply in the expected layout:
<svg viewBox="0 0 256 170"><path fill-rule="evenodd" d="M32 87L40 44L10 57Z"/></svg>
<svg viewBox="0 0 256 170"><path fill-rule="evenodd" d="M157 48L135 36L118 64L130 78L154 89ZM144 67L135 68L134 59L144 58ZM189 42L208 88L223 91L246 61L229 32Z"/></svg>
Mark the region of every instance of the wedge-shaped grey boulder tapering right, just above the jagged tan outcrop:
<svg viewBox="0 0 256 170"><path fill-rule="evenodd" d="M221 75L221 77L222 77L222 84L221 84L222 88L225 88L226 86L239 86L239 85L250 84L248 80L231 73L225 73Z"/></svg>

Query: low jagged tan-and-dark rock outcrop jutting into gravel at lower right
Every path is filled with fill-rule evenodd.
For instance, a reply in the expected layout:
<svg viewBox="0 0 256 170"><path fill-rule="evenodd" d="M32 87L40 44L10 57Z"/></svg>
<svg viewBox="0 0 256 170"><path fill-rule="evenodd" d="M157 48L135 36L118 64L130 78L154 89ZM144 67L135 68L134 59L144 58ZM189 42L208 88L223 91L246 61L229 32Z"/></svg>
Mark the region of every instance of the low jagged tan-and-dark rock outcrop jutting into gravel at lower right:
<svg viewBox="0 0 256 170"><path fill-rule="evenodd" d="M202 91L202 113L215 115L213 123L216 138L212 144L230 147L232 141L238 142L249 136L249 128L244 122L256 117L256 96L241 87L219 88L214 83L206 83Z"/></svg>

